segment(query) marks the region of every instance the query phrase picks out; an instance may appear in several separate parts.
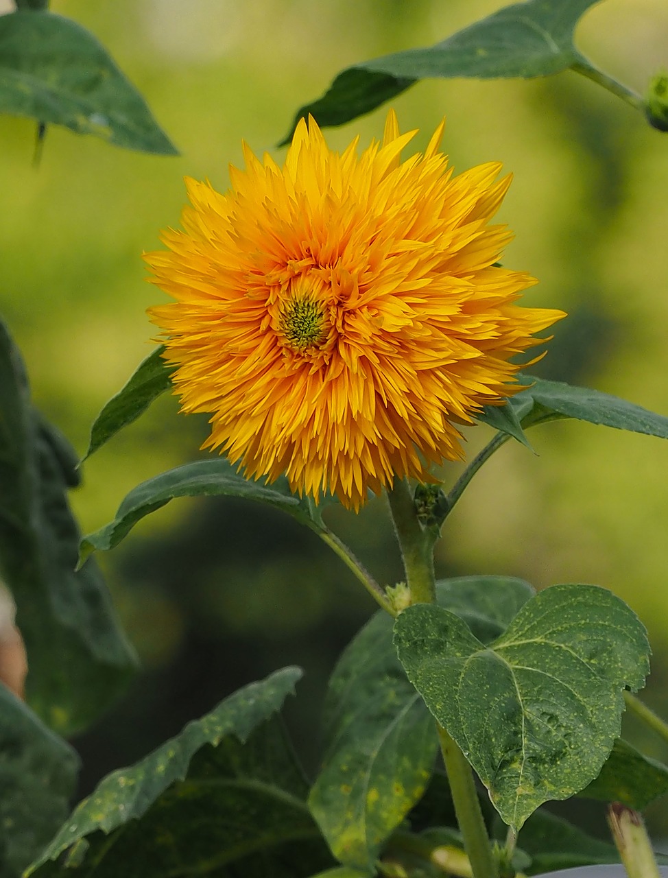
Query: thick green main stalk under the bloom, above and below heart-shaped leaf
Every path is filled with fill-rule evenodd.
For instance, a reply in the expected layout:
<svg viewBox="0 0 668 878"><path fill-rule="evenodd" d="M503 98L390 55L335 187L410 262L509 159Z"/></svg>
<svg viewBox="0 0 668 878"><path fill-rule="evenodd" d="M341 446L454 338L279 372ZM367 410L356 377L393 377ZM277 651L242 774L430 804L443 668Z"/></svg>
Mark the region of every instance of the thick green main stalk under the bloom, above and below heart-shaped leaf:
<svg viewBox="0 0 668 878"><path fill-rule="evenodd" d="M438 538L438 529L420 523L419 510L406 479L395 479L387 495L404 559L411 603L435 603L434 545ZM473 878L497 878L498 870L480 810L472 769L448 731L439 724L436 728L455 804L457 823L462 832Z"/></svg>

